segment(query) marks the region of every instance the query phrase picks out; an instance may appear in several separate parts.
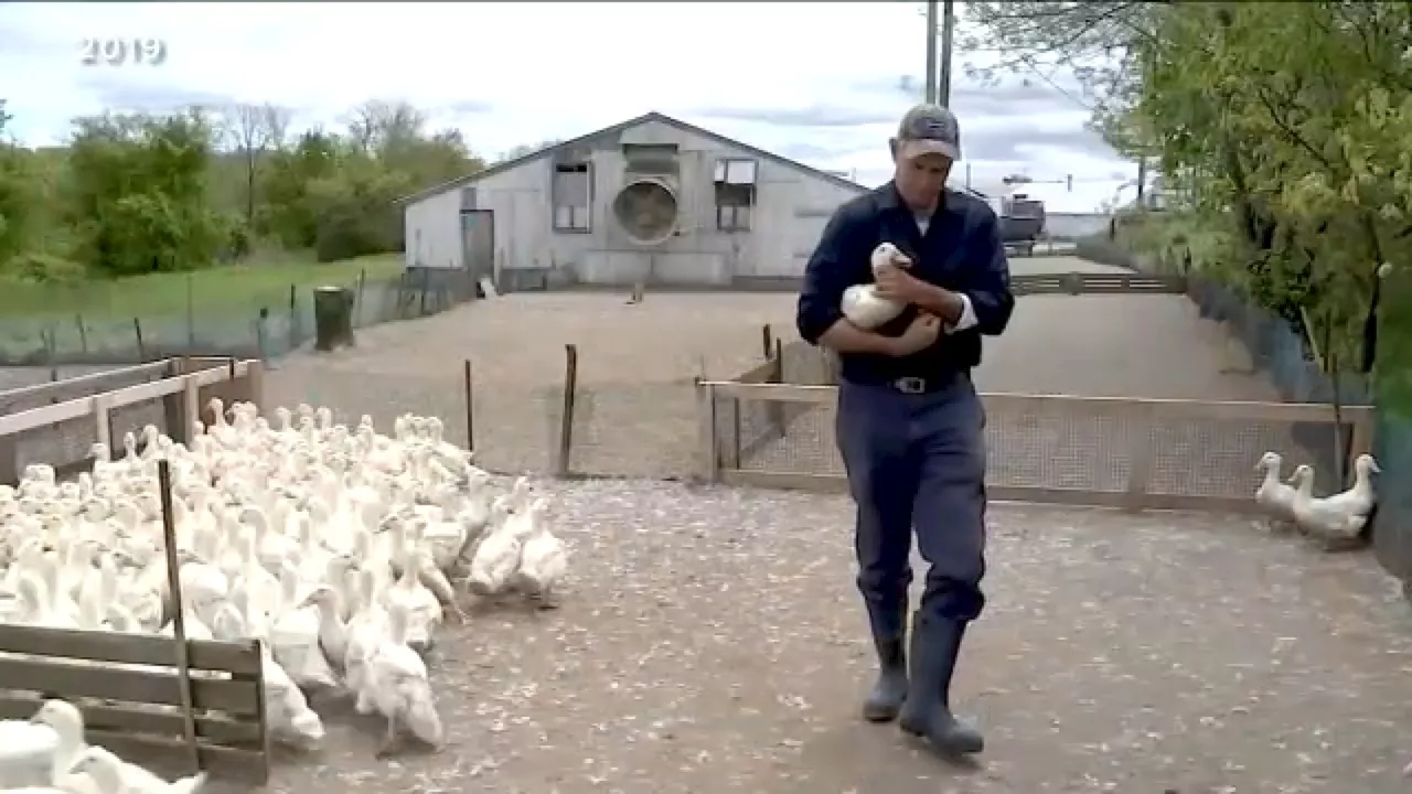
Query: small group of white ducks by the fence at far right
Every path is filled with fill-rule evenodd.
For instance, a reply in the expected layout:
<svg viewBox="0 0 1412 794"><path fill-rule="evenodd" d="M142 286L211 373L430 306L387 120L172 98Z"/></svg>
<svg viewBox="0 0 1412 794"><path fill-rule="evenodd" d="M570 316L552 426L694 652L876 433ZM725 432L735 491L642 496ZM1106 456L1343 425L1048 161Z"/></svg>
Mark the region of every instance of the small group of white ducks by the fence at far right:
<svg viewBox="0 0 1412 794"><path fill-rule="evenodd" d="M1255 502L1269 516L1275 527L1295 527L1306 535L1324 541L1351 541L1364 534L1364 527L1378 504L1372 490L1372 475L1381 472L1372 455L1358 455L1353 463L1353 486L1341 493L1315 497L1315 470L1299 465L1286 482L1281 482L1284 465L1278 452L1265 452L1255 470L1265 478L1255 490ZM1286 483L1295 483L1289 486Z"/></svg>

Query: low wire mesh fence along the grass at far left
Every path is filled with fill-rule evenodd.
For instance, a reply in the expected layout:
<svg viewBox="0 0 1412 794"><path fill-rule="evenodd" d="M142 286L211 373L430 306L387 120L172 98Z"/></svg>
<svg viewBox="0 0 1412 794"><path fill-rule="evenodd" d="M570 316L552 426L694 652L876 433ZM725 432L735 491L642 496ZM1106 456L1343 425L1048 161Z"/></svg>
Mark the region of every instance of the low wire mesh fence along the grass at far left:
<svg viewBox="0 0 1412 794"><path fill-rule="evenodd" d="M275 359L313 338L313 290L297 284L254 291L234 304L196 274L186 292L157 308L124 311L110 284L66 295L72 312L0 321L0 366L117 365L169 356ZM332 283L353 291L356 328L428 316L476 297L470 273L417 268L387 278L364 274Z"/></svg>

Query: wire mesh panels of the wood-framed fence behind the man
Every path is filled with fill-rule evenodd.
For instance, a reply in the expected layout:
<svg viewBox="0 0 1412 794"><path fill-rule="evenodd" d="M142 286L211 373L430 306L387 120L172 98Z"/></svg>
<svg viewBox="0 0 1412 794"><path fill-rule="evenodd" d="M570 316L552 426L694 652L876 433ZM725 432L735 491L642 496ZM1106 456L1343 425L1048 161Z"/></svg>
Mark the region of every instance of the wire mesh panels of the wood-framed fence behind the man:
<svg viewBox="0 0 1412 794"><path fill-rule="evenodd" d="M1261 478L1255 463L1271 451L1284 456L1285 473L1308 463L1319 487L1334 487L1334 425L1309 414L1291 418L1312 407L1288 407L1291 413L1274 405L1269 418L1258 418L1255 408L1223 415L1228 411L1221 404L1200 415L1199 405L1178 411L1123 398L987 394L983 400L987 486L1017 496L1118 496L1141 487L1156 497L1248 502ZM764 417L779 415L781 403L792 403L796 415L770 425ZM737 429L737 415L761 417L757 435ZM717 394L713 417L724 469L839 480L844 475L832 400L791 398L788 389L764 398ZM1354 432L1351 422L1343 432L1344 438ZM738 446L736 438L743 439Z"/></svg>

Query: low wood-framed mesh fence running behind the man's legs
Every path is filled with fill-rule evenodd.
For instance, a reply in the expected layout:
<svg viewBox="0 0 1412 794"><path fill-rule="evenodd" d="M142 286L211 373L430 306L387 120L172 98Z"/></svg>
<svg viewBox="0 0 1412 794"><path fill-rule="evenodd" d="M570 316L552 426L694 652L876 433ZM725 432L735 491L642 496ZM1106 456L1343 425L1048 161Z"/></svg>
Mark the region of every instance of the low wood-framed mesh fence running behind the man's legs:
<svg viewBox="0 0 1412 794"><path fill-rule="evenodd" d="M1298 441L1293 428L1329 431L1336 425L1334 410L1323 404L1202 401L1202 400L1138 400L1115 397L1072 397L1041 394L983 394L988 417L987 434L1003 431L1011 424L1011 441L1019 445L991 444L987 493L995 500L1039 502L1055 504L1086 504L1123 507L1128 510L1224 510L1255 513L1254 487L1258 476L1255 462L1267 449L1252 445L1269 444L1291 463L1313 462ZM698 386L699 410L699 468L709 482L761 487L844 492L847 487L842 466L834 456L833 405L834 386L789 386L774 383L702 381ZM740 415L796 415L818 414L816 421L785 421L760 431L761 438L741 439ZM1344 407L1340 422L1350 458L1372 446L1372 408ZM1108 429L1091 429L1094 438L1073 438L1076 427L1096 428L1104 422ZM1206 424L1203 442L1172 441L1172 428ZM802 428L808 425L808 428ZM1289 432L1248 435L1244 448L1227 446L1221 466L1210 466L1210 455L1203 446L1220 444L1223 437L1241 435L1241 428L1285 428ZM768 435L765 435L768 432ZM813 438L799 439L809 432ZM1319 434L1315 434L1319 435ZM1048 438L1048 448L1045 446ZM1053 437L1066 437L1055 441ZM1034 442L1032 445L1029 442ZM768 446L808 445L812 461L799 465L801 455L770 455ZM1058 455L1075 466L1101 469L1103 480L1120 478L1117 486L1035 483L1036 478L1007 475L1045 465L1043 458L1056 456L1055 446L1067 444ZM1169 444L1182 449L1166 448ZM1086 449L1089 445L1090 449ZM997 446L1000 446L997 449ZM1101 448L1101 449L1100 449ZM1101 461L1089 458L1101 456ZM1254 456L1251 456L1254 455ZM1024 459L1024 458L1028 458ZM1163 463L1163 485L1154 487L1158 458ZM784 461L784 463L781 463ZM1121 469L1121 475L1111 475ZM1326 468L1327 469L1327 468ZM1327 470L1323 472L1327 475ZM1043 479L1042 476L1039 479ZM1075 479L1075 478L1052 478ZM1029 480L1029 482L1024 482ZM1231 482L1237 480L1237 482ZM1104 483L1107 485L1107 482ZM1247 489L1248 485L1248 489Z"/></svg>

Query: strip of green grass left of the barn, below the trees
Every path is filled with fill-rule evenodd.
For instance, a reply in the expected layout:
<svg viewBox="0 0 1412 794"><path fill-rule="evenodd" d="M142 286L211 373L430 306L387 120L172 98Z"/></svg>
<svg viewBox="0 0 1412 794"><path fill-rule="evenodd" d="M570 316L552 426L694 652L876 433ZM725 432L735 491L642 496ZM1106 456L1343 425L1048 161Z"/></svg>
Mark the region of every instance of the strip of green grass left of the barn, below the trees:
<svg viewBox="0 0 1412 794"><path fill-rule="evenodd" d="M298 254L263 257L249 263L191 273L154 273L79 284L0 281L0 322L41 316L185 316L271 312L289 302L292 285L301 300L309 288L352 285L366 273L369 281L394 277L402 254L378 254L319 264Z"/></svg>

